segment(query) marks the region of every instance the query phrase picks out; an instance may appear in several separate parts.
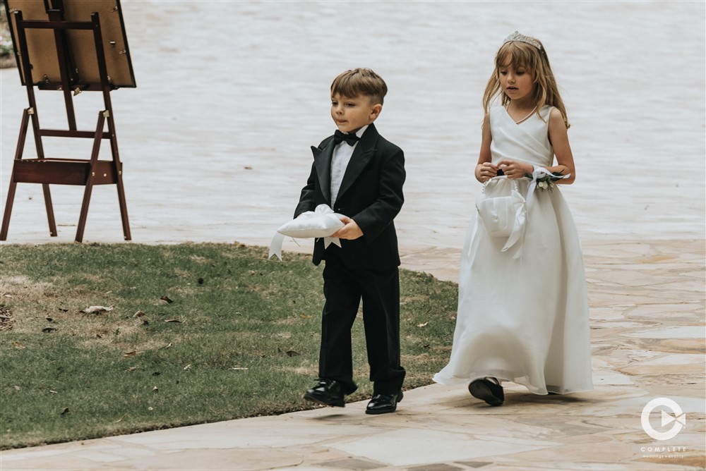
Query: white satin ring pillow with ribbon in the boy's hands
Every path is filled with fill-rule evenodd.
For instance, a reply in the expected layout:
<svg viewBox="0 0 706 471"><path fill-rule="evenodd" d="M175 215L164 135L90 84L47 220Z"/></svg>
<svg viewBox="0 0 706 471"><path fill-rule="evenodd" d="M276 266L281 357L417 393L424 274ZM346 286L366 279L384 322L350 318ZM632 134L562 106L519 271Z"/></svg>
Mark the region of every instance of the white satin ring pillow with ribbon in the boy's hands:
<svg viewBox="0 0 706 471"><path fill-rule="evenodd" d="M306 211L296 219L292 219L285 224L282 224L270 243L270 255L277 255L278 259L282 259L282 243L285 241L285 236L292 238L322 238L323 246L328 247L331 243L341 246L341 241L337 237L330 237L331 234L345 226L341 221L342 214L333 212L333 209L328 204L319 204L313 211Z"/></svg>

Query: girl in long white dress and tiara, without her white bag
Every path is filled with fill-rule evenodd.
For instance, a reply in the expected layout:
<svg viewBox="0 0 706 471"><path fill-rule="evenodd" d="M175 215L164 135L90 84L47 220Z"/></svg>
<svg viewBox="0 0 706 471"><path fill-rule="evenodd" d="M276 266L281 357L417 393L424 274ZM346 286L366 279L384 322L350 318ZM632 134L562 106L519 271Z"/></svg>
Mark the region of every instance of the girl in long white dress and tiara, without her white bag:
<svg viewBox="0 0 706 471"><path fill-rule="evenodd" d="M497 98L502 106L493 106ZM510 236L491 236L476 214L460 264L458 312L441 384L468 384L490 405L502 381L532 393L593 389L581 245L557 183L576 177L569 127L542 43L503 42L483 99L486 116L475 177L484 196L520 193ZM556 157L556 164L554 164Z"/></svg>

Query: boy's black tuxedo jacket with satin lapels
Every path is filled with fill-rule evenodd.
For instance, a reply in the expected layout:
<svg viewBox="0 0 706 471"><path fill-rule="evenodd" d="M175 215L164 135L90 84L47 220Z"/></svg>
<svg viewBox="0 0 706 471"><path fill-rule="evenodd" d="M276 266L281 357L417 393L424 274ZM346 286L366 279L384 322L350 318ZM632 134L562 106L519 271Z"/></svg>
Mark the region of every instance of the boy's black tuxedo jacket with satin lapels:
<svg viewBox="0 0 706 471"><path fill-rule="evenodd" d="M331 158L333 135L313 151L311 175L301 190L294 217L313 211L319 204L331 206ZM393 219L402 209L405 198L405 154L400 147L385 140L370 124L361 136L349 161L333 210L352 218L363 231L356 240L341 240L341 261L349 268L388 269L400 265L397 233ZM326 258L323 239L316 240L313 263Z"/></svg>

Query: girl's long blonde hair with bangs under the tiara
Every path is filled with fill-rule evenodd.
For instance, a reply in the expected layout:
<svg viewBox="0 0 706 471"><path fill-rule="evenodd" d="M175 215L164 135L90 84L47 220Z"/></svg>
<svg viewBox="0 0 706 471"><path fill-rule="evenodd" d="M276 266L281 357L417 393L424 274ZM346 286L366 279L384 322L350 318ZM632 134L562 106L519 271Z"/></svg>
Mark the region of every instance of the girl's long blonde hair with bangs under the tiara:
<svg viewBox="0 0 706 471"><path fill-rule="evenodd" d="M503 106L510 102L510 98L503 92L500 86L500 69L508 65L512 65L515 69L524 67L529 70L532 74L532 78L534 78L533 98L534 104L537 105L537 115L542 118L542 115L539 114L539 110L542 109L542 106L546 104L554 106L561 111L561 116L563 116L564 123L566 123L566 128L568 129L570 125L566 117L566 108L564 107L564 102L556 86L554 73L549 66L549 58L546 56L544 46L539 42L539 39L534 37L528 38L536 41L540 48L534 47L532 44L526 42L509 41L505 42L505 44L498 49L498 54L495 56L495 71L493 71L493 75L491 75L490 80L488 80L486 91L483 94L483 109L486 114L488 114L491 103L498 96L501 97Z"/></svg>

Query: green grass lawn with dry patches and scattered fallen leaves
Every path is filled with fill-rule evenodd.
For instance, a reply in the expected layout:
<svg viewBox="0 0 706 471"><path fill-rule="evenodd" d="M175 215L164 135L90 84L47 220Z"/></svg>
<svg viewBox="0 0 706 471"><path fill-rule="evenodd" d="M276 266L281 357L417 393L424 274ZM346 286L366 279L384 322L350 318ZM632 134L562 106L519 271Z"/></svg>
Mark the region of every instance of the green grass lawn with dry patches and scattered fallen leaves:
<svg viewBox="0 0 706 471"><path fill-rule="evenodd" d="M312 408L322 270L244 245L2 245L0 448ZM448 360L457 287L403 270L401 292L410 389ZM362 322L354 368L348 400L369 398Z"/></svg>

